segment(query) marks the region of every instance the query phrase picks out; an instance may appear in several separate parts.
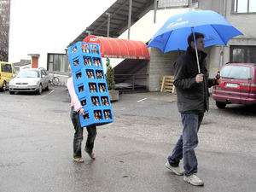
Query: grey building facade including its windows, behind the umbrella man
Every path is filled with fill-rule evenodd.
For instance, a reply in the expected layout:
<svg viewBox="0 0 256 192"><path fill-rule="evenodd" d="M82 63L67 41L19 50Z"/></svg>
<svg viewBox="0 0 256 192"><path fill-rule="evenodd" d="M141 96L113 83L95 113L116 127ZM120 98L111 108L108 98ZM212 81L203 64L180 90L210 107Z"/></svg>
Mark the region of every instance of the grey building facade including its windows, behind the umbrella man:
<svg viewBox="0 0 256 192"><path fill-rule="evenodd" d="M233 26L244 34L243 36L231 39L226 46L212 46L206 49L208 54L207 67L210 77L214 77L217 71L227 62L256 63L255 0L198 0L193 1L190 9L210 9L216 11L224 15ZM172 64L176 61L178 54L177 52L162 54L157 49L150 49L150 55L148 90L158 91L160 90L160 79L164 75L173 75Z"/></svg>

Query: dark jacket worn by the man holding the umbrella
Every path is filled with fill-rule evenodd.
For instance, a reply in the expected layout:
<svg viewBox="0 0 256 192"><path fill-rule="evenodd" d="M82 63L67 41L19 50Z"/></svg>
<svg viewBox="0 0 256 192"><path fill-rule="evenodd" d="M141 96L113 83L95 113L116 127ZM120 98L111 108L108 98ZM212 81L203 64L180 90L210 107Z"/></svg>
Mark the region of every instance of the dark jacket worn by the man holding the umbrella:
<svg viewBox="0 0 256 192"><path fill-rule="evenodd" d="M208 88L215 84L214 79L208 79L206 66L207 54L199 53L201 73L204 81L197 84L195 76L198 74L195 49L188 48L174 64L174 85L177 90L177 108L180 113L204 113L209 109Z"/></svg>

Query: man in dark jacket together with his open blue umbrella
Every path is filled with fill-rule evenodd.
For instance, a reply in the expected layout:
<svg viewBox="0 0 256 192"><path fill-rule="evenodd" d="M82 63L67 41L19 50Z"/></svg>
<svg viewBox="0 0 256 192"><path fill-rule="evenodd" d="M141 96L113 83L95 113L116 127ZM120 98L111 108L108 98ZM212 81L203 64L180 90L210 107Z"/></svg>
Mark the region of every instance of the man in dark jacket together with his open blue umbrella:
<svg viewBox="0 0 256 192"><path fill-rule="evenodd" d="M171 16L148 43L148 47L160 49L163 53L187 49L177 59L174 77L183 133L168 157L166 167L177 175L184 174L184 180L194 185L203 185L195 175L197 132L209 108L208 88L219 84L219 79L208 79L207 54L203 49L228 44L231 38L238 35L242 33L222 15L212 10L195 10ZM184 172L178 166L182 158Z"/></svg>

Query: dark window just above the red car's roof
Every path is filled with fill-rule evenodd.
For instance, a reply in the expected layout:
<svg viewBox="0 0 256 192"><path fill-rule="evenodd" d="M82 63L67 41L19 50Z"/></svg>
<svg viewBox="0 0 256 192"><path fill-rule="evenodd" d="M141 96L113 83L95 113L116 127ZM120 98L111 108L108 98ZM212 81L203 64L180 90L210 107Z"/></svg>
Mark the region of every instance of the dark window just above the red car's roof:
<svg viewBox="0 0 256 192"><path fill-rule="evenodd" d="M256 46L230 46L230 62L256 63Z"/></svg>

